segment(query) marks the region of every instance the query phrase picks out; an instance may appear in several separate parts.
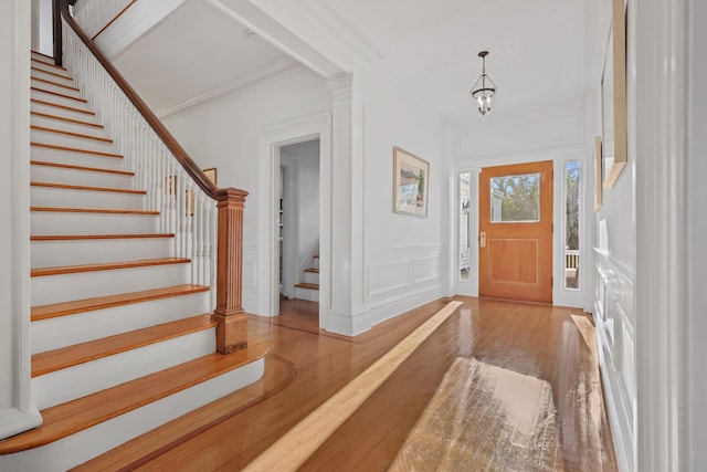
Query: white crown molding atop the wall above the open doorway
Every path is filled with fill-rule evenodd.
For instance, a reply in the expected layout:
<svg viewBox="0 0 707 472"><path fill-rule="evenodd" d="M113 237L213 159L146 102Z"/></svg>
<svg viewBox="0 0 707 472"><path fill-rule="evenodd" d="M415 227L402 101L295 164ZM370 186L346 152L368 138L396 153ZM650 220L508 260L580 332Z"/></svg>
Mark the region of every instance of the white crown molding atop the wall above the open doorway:
<svg viewBox="0 0 707 472"><path fill-rule="evenodd" d="M199 95L194 95L173 105L162 107L157 111L157 116L160 119L170 118L197 106L213 102L223 96L253 88L260 85L265 80L275 77L279 74L284 74L285 72L292 71L297 67L302 67L302 65L291 57L283 57L277 61L273 61L263 67L238 76L214 88L211 88L210 91L200 93Z"/></svg>

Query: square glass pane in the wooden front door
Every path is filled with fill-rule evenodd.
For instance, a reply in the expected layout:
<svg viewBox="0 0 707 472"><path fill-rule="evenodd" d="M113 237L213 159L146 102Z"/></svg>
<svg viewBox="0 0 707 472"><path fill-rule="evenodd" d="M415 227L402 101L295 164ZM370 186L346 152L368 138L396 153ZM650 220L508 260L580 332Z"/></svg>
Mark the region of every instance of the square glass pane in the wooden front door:
<svg viewBox="0 0 707 472"><path fill-rule="evenodd" d="M540 221L540 174L492 177L490 222Z"/></svg>

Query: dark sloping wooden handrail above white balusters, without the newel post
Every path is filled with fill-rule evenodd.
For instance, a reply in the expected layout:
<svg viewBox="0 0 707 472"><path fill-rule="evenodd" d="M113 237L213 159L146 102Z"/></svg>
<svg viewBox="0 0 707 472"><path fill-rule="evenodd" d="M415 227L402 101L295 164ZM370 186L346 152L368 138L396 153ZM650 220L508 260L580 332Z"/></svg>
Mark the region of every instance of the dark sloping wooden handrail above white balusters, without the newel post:
<svg viewBox="0 0 707 472"><path fill-rule="evenodd" d="M218 187L211 182L211 180L203 174L201 168L197 166L197 164L189 157L187 151L177 143L177 139L167 130L167 127L159 120L157 115L152 113L152 111L147 106L147 104L140 98L140 96L135 92L135 90L128 84L128 82L123 77L123 75L115 69L113 63L108 61L108 59L103 55L101 50L96 48L93 41L84 33L82 28L76 23L76 20L68 12L68 3L66 0L54 0L59 3L59 11L61 15L64 18L66 23L74 30L74 32L78 35L81 41L88 48L88 50L93 53L93 55L98 60L101 65L106 70L106 72L110 75L110 77L115 81L115 83L123 90L128 99L133 103L133 105L137 108L137 111L143 115L145 120L150 125L150 127L157 133L157 136L165 143L165 146L175 155L175 158L179 161L179 164L184 168L187 174L191 176L191 178L197 182L197 185L212 199L218 200L217 190ZM56 10L56 9L55 9ZM54 31L54 48L56 48L56 29ZM59 36L61 39L61 19L59 27ZM61 50L60 50L61 51ZM54 53L61 56L62 54L56 52ZM56 60L56 59L55 59ZM246 193L247 195L247 193Z"/></svg>

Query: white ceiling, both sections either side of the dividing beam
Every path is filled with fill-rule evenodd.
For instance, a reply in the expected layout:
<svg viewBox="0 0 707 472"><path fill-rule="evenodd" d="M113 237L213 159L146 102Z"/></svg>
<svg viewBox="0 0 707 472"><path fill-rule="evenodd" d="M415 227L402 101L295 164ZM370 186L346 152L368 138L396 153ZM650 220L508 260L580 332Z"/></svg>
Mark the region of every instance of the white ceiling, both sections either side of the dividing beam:
<svg viewBox="0 0 707 472"><path fill-rule="evenodd" d="M334 62L331 51L349 48L382 63L451 122L477 118L468 91L482 50L498 86L494 114L583 99L585 0L249 1L299 38L316 38L323 53L337 46L328 51ZM285 61L264 39L246 39L218 3L187 0L116 60L154 108ZM247 1L220 4L239 3Z"/></svg>

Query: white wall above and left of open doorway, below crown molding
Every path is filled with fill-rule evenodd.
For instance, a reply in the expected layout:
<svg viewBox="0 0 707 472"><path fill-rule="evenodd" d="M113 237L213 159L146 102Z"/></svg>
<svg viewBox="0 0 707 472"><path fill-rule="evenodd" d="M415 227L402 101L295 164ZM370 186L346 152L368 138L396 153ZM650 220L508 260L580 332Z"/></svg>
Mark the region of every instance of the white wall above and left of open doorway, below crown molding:
<svg viewBox="0 0 707 472"><path fill-rule="evenodd" d="M217 167L220 187L249 192L243 230L243 307L263 313L256 295L258 271L258 155L261 129L327 112L330 98L324 81L304 67L288 71L219 101L189 109L165 122L202 168Z"/></svg>

